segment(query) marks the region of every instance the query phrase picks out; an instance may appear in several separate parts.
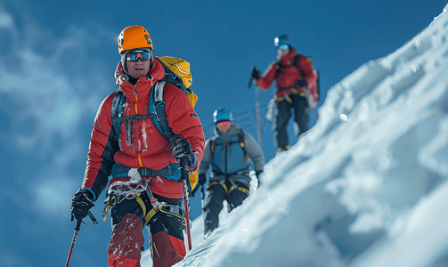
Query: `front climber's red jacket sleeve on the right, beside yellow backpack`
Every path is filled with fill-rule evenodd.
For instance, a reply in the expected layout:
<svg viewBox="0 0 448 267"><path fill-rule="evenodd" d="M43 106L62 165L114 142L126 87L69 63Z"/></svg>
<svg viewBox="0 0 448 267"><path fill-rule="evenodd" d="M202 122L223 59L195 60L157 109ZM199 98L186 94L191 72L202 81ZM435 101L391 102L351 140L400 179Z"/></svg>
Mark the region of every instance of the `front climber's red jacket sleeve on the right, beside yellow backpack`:
<svg viewBox="0 0 448 267"><path fill-rule="evenodd" d="M190 142L199 163L204 155L205 138L198 114L186 95L175 85L165 85L164 101L169 126L174 134L181 134Z"/></svg>

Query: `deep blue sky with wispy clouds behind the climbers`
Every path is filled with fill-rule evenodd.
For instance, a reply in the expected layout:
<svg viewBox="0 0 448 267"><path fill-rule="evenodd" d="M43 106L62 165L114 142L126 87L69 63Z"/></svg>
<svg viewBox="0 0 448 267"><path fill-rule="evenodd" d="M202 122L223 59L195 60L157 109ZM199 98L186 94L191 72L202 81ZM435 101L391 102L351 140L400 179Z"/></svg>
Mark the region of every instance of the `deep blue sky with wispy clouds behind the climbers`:
<svg viewBox="0 0 448 267"><path fill-rule="evenodd" d="M288 34L298 53L312 58L321 75L320 106L331 85L393 53L446 4L428 3L0 0L0 266L65 263L74 227L69 203L82 181L96 109L116 89L121 29L142 25L155 55L191 62L206 137L213 110L222 106L257 136L248 79L253 65L264 71L275 60L275 36ZM262 110L272 97L273 88L260 93ZM273 134L262 122L269 160ZM97 217L102 208L98 201ZM200 198L191 198L191 209L192 218L200 214ZM105 265L109 239L109 220L83 226L73 265Z"/></svg>

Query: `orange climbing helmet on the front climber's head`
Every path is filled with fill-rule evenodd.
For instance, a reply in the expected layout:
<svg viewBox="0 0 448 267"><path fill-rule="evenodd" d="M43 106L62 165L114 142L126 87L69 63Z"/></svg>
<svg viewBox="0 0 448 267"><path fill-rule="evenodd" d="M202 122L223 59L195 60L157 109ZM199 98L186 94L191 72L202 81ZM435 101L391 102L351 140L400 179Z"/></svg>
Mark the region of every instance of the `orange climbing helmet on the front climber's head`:
<svg viewBox="0 0 448 267"><path fill-rule="evenodd" d="M118 53L135 48L149 48L152 51L150 34L138 25L124 28L118 36Z"/></svg>

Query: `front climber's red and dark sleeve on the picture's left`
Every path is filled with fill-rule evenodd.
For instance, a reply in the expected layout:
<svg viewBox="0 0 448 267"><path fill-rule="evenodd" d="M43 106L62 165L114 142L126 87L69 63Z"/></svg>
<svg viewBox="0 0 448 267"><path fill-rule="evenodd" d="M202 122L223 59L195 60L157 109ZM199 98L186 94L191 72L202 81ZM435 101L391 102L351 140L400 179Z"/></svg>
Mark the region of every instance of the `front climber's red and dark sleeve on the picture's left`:
<svg viewBox="0 0 448 267"><path fill-rule="evenodd" d="M83 188L92 190L98 198L109 182L110 170L115 163L114 155L119 150L112 127L110 109L114 93L102 101L94 119L94 129L87 152L86 173Z"/></svg>

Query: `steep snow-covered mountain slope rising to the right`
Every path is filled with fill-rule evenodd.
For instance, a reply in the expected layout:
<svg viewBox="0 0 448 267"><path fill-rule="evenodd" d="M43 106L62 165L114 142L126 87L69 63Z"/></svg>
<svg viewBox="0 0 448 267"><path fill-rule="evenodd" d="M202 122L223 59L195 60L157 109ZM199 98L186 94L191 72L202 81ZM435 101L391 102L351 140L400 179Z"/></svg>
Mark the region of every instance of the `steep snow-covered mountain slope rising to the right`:
<svg viewBox="0 0 448 267"><path fill-rule="evenodd" d="M205 241L193 222L175 266L447 266L447 8L334 85L261 190Z"/></svg>

